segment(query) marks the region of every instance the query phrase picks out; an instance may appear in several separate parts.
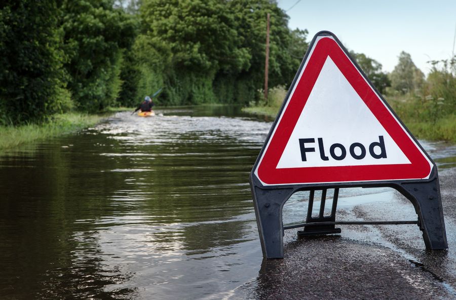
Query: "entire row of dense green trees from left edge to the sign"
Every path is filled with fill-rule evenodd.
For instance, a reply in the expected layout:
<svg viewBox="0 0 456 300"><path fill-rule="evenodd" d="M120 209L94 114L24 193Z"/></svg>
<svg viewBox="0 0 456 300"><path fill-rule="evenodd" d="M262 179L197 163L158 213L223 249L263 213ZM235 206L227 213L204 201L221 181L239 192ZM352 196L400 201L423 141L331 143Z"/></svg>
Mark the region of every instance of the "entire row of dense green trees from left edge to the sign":
<svg viewBox="0 0 456 300"><path fill-rule="evenodd" d="M134 106L165 87L161 105L246 105L291 82L307 31L290 30L269 0L41 0L0 5L0 122Z"/></svg>

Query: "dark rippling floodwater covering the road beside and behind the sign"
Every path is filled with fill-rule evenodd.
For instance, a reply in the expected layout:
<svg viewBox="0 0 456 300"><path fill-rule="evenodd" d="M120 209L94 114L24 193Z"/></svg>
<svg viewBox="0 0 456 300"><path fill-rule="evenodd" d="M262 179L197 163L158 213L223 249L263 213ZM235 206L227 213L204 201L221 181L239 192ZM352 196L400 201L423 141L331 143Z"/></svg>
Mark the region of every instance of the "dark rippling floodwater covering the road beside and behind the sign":
<svg viewBox="0 0 456 300"><path fill-rule="evenodd" d="M0 153L0 298L219 299L261 275L248 176L272 123L227 107L157 113ZM456 166L454 146L424 147ZM343 189L338 212L394 195ZM305 198L284 223L304 220Z"/></svg>

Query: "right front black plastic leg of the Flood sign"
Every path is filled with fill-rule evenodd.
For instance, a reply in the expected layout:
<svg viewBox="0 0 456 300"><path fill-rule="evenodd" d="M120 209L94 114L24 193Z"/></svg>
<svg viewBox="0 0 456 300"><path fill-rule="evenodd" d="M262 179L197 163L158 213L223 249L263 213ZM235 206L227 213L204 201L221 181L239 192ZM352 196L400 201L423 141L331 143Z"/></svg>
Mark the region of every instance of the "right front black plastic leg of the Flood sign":
<svg viewBox="0 0 456 300"><path fill-rule="evenodd" d="M426 249L447 249L438 178L429 182L402 183L401 187L401 192L413 203L418 215Z"/></svg>

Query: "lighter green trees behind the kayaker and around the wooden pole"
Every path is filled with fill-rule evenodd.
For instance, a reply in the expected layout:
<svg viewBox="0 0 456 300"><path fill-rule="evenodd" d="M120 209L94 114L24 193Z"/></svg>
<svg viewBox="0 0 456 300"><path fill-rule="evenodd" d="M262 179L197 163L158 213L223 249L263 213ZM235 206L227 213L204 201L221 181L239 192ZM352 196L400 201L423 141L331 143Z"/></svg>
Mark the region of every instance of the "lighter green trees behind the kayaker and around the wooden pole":
<svg viewBox="0 0 456 300"><path fill-rule="evenodd" d="M307 32L289 30L288 16L275 3L144 0L135 43L138 97L164 85L160 101L166 105L247 104L264 82L267 13L270 86L288 84L300 62L290 52L307 47Z"/></svg>

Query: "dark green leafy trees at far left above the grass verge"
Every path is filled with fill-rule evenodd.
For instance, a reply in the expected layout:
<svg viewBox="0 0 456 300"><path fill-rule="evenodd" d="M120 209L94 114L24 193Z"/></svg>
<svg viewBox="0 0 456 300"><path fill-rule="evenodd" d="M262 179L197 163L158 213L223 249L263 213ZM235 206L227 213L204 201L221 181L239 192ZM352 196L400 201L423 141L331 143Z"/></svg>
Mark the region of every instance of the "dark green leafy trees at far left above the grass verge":
<svg viewBox="0 0 456 300"><path fill-rule="evenodd" d="M0 124L115 105L136 21L113 0L0 4Z"/></svg>

